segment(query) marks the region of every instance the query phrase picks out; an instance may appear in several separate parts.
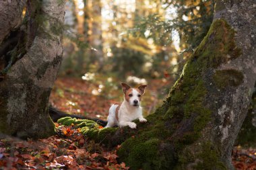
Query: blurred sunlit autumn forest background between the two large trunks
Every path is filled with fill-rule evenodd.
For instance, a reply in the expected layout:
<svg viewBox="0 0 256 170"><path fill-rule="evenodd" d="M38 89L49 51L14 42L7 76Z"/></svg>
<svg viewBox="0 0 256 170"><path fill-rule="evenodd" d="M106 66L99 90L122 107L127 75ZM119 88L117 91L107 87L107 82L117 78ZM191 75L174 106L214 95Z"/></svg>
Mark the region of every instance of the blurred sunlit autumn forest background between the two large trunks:
<svg viewBox="0 0 256 170"><path fill-rule="evenodd" d="M69 0L63 62L51 104L106 119L120 83L147 84L144 114L160 105L207 34L210 0Z"/></svg>

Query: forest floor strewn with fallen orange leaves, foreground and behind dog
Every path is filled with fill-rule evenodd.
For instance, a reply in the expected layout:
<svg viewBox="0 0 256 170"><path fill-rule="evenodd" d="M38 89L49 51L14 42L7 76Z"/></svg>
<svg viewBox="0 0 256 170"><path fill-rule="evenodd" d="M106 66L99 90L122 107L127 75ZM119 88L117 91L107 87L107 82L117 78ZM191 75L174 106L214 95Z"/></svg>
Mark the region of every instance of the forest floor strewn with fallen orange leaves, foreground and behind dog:
<svg viewBox="0 0 256 170"><path fill-rule="evenodd" d="M154 112L169 87L167 81L152 80L143 97L143 114ZM98 92L97 92L98 91ZM106 120L108 108L122 101L121 87L102 81L60 78L55 82L50 102L70 114ZM129 169L119 163L117 150L109 151L83 136L73 126L55 123L57 135L40 140L5 137L0 140L0 169ZM0 136L0 138L3 138ZM256 169L256 149L234 147L232 161L236 169Z"/></svg>

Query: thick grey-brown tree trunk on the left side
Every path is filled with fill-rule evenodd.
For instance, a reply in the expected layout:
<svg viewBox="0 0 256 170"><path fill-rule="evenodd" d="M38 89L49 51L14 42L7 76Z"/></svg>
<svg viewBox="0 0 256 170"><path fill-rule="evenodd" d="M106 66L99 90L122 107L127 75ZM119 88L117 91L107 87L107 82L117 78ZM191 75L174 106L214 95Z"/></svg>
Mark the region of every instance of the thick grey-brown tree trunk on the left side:
<svg viewBox="0 0 256 170"><path fill-rule="evenodd" d="M18 40L13 49L3 54L9 67L5 65L0 80L2 133L24 138L44 138L55 133L48 102L63 52L64 4L57 0L27 2L24 23L16 29L23 32L23 41ZM6 4L1 5L7 8ZM17 17L21 18L19 14ZM13 22L11 17L5 19Z"/></svg>

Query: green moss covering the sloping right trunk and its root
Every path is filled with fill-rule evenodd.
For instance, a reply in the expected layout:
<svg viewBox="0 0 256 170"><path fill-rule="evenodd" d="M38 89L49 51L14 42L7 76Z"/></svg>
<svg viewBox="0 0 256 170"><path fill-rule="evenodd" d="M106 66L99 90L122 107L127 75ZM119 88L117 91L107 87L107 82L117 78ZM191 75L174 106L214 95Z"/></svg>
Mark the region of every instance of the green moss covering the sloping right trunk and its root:
<svg viewBox="0 0 256 170"><path fill-rule="evenodd" d="M195 146L193 152L187 146L193 146L200 140L202 130L212 120L212 108L205 107L208 93L205 81L216 82L216 86L220 86L216 80L220 74L214 77L213 70L241 55L241 50L235 45L234 34L224 19L217 19L185 65L165 103L148 116L146 124L138 124L137 130L98 129L89 120L80 124L75 120L77 126L83 127L82 132L98 142L108 146L121 144L119 159L131 169L187 169L189 166L193 169L226 169L220 161L218 147L210 139ZM243 82L243 74L231 72L235 73L231 79L238 80L234 83L232 80L224 81L226 86ZM67 125L75 121L70 118L59 120ZM198 163L197 159L200 160Z"/></svg>

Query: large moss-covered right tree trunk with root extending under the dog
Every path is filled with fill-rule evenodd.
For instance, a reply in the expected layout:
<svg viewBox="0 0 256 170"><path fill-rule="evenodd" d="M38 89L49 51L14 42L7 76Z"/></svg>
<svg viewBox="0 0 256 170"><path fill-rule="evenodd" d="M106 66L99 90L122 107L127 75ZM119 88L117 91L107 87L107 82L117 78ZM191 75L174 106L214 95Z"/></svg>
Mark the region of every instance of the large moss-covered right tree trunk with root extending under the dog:
<svg viewBox="0 0 256 170"><path fill-rule="evenodd" d="M146 124L97 130L85 122L84 134L108 146L122 143L119 159L131 169L233 169L232 147L256 80L255 5L216 1L207 36Z"/></svg>

